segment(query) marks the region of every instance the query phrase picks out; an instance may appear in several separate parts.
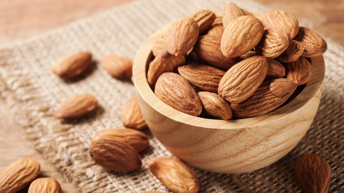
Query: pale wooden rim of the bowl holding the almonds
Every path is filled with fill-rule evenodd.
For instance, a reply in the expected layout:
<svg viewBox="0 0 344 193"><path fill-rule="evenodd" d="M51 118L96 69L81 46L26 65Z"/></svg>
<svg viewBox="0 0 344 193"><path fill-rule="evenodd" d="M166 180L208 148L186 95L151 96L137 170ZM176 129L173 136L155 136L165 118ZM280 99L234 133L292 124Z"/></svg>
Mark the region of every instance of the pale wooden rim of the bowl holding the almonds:
<svg viewBox="0 0 344 193"><path fill-rule="evenodd" d="M222 11L215 13L217 16L222 16L223 14ZM150 88L146 78L147 65L153 58L151 51L152 45L156 39L161 38L164 35L171 24L172 23L161 27L146 39L138 50L133 61L133 82L136 87L137 94L140 94L142 99L148 105L150 105L155 111L164 115L166 118L170 118L174 121L188 124L190 126L209 129L255 128L267 123L271 124L272 122L278 122L284 118L292 116L293 112L306 105L313 97L317 97L316 94L318 92L322 91L325 77L325 62L323 56L320 55L310 58L312 63L312 77L304 89L292 101L267 114L239 120L214 120L180 112L161 101ZM271 121L271 118L274 121Z"/></svg>

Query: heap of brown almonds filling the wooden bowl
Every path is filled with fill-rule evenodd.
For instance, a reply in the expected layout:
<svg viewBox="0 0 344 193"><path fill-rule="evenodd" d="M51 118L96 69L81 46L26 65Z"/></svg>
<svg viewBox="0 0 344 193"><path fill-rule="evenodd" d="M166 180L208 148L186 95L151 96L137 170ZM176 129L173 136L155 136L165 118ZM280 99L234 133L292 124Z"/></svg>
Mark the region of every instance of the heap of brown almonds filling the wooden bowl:
<svg viewBox="0 0 344 193"><path fill-rule="evenodd" d="M193 116L229 120L269 113L312 76L307 58L324 39L291 14L259 20L230 3L223 17L196 11L173 23L152 47L147 81L164 103Z"/></svg>

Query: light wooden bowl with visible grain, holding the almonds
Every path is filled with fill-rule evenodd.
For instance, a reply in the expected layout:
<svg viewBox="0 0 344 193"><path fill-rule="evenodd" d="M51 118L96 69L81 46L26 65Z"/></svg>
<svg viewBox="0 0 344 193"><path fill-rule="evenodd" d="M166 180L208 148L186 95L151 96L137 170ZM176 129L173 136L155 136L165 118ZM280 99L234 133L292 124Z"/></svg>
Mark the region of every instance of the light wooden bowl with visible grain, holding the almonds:
<svg viewBox="0 0 344 193"><path fill-rule="evenodd" d="M270 165L299 143L319 106L325 76L323 56L311 58L310 81L295 99L279 109L241 120L205 119L166 105L147 82L147 66L153 59L152 44L169 26L157 30L143 43L133 63L133 79L142 114L167 150L196 168L243 173Z"/></svg>

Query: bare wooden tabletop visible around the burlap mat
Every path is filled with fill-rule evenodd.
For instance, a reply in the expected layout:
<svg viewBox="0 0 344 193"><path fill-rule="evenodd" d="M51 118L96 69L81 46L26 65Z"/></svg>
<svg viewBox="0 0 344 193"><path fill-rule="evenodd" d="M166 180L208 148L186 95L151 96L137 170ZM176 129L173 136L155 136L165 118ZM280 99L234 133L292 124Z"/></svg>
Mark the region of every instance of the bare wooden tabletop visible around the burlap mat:
<svg viewBox="0 0 344 193"><path fill-rule="evenodd" d="M132 0L13 0L0 2L0 42L40 34L67 24L78 18L91 15L121 3ZM256 0L271 9L283 9L299 20L309 20L313 29L331 37L344 46L344 1L343 0ZM9 117L4 100L0 99L0 171L11 162L32 156L41 163L40 176L55 178L63 192L77 192L77 186L70 183L52 164L34 150L25 139L24 132ZM21 192L27 191L24 189Z"/></svg>

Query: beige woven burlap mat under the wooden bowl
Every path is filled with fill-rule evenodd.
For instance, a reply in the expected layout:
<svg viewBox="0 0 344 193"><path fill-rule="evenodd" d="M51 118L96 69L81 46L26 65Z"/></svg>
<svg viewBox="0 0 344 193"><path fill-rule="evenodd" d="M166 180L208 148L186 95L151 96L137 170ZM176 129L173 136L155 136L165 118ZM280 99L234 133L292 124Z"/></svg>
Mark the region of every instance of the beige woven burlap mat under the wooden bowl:
<svg viewBox="0 0 344 193"><path fill-rule="evenodd" d="M94 135L123 127L119 120L135 95L130 81L109 76L96 64L106 54L133 59L144 40L159 27L195 10L222 10L226 0L142 0L82 19L67 26L0 48L0 92L35 148L83 192L166 191L147 168L147 161L173 156L149 132L143 165L129 173L104 170L88 153ZM251 12L266 8L251 1L233 1ZM301 25L309 22L300 21ZM329 192L344 191L344 49L326 39L326 78L314 122L301 142L281 160L244 174L218 174L195 169L200 192L301 192L294 164L304 154L319 154L331 167ZM50 70L55 60L79 51L93 53L94 63L77 80L63 81ZM52 114L74 94L90 93L99 107L83 118L60 121Z"/></svg>

